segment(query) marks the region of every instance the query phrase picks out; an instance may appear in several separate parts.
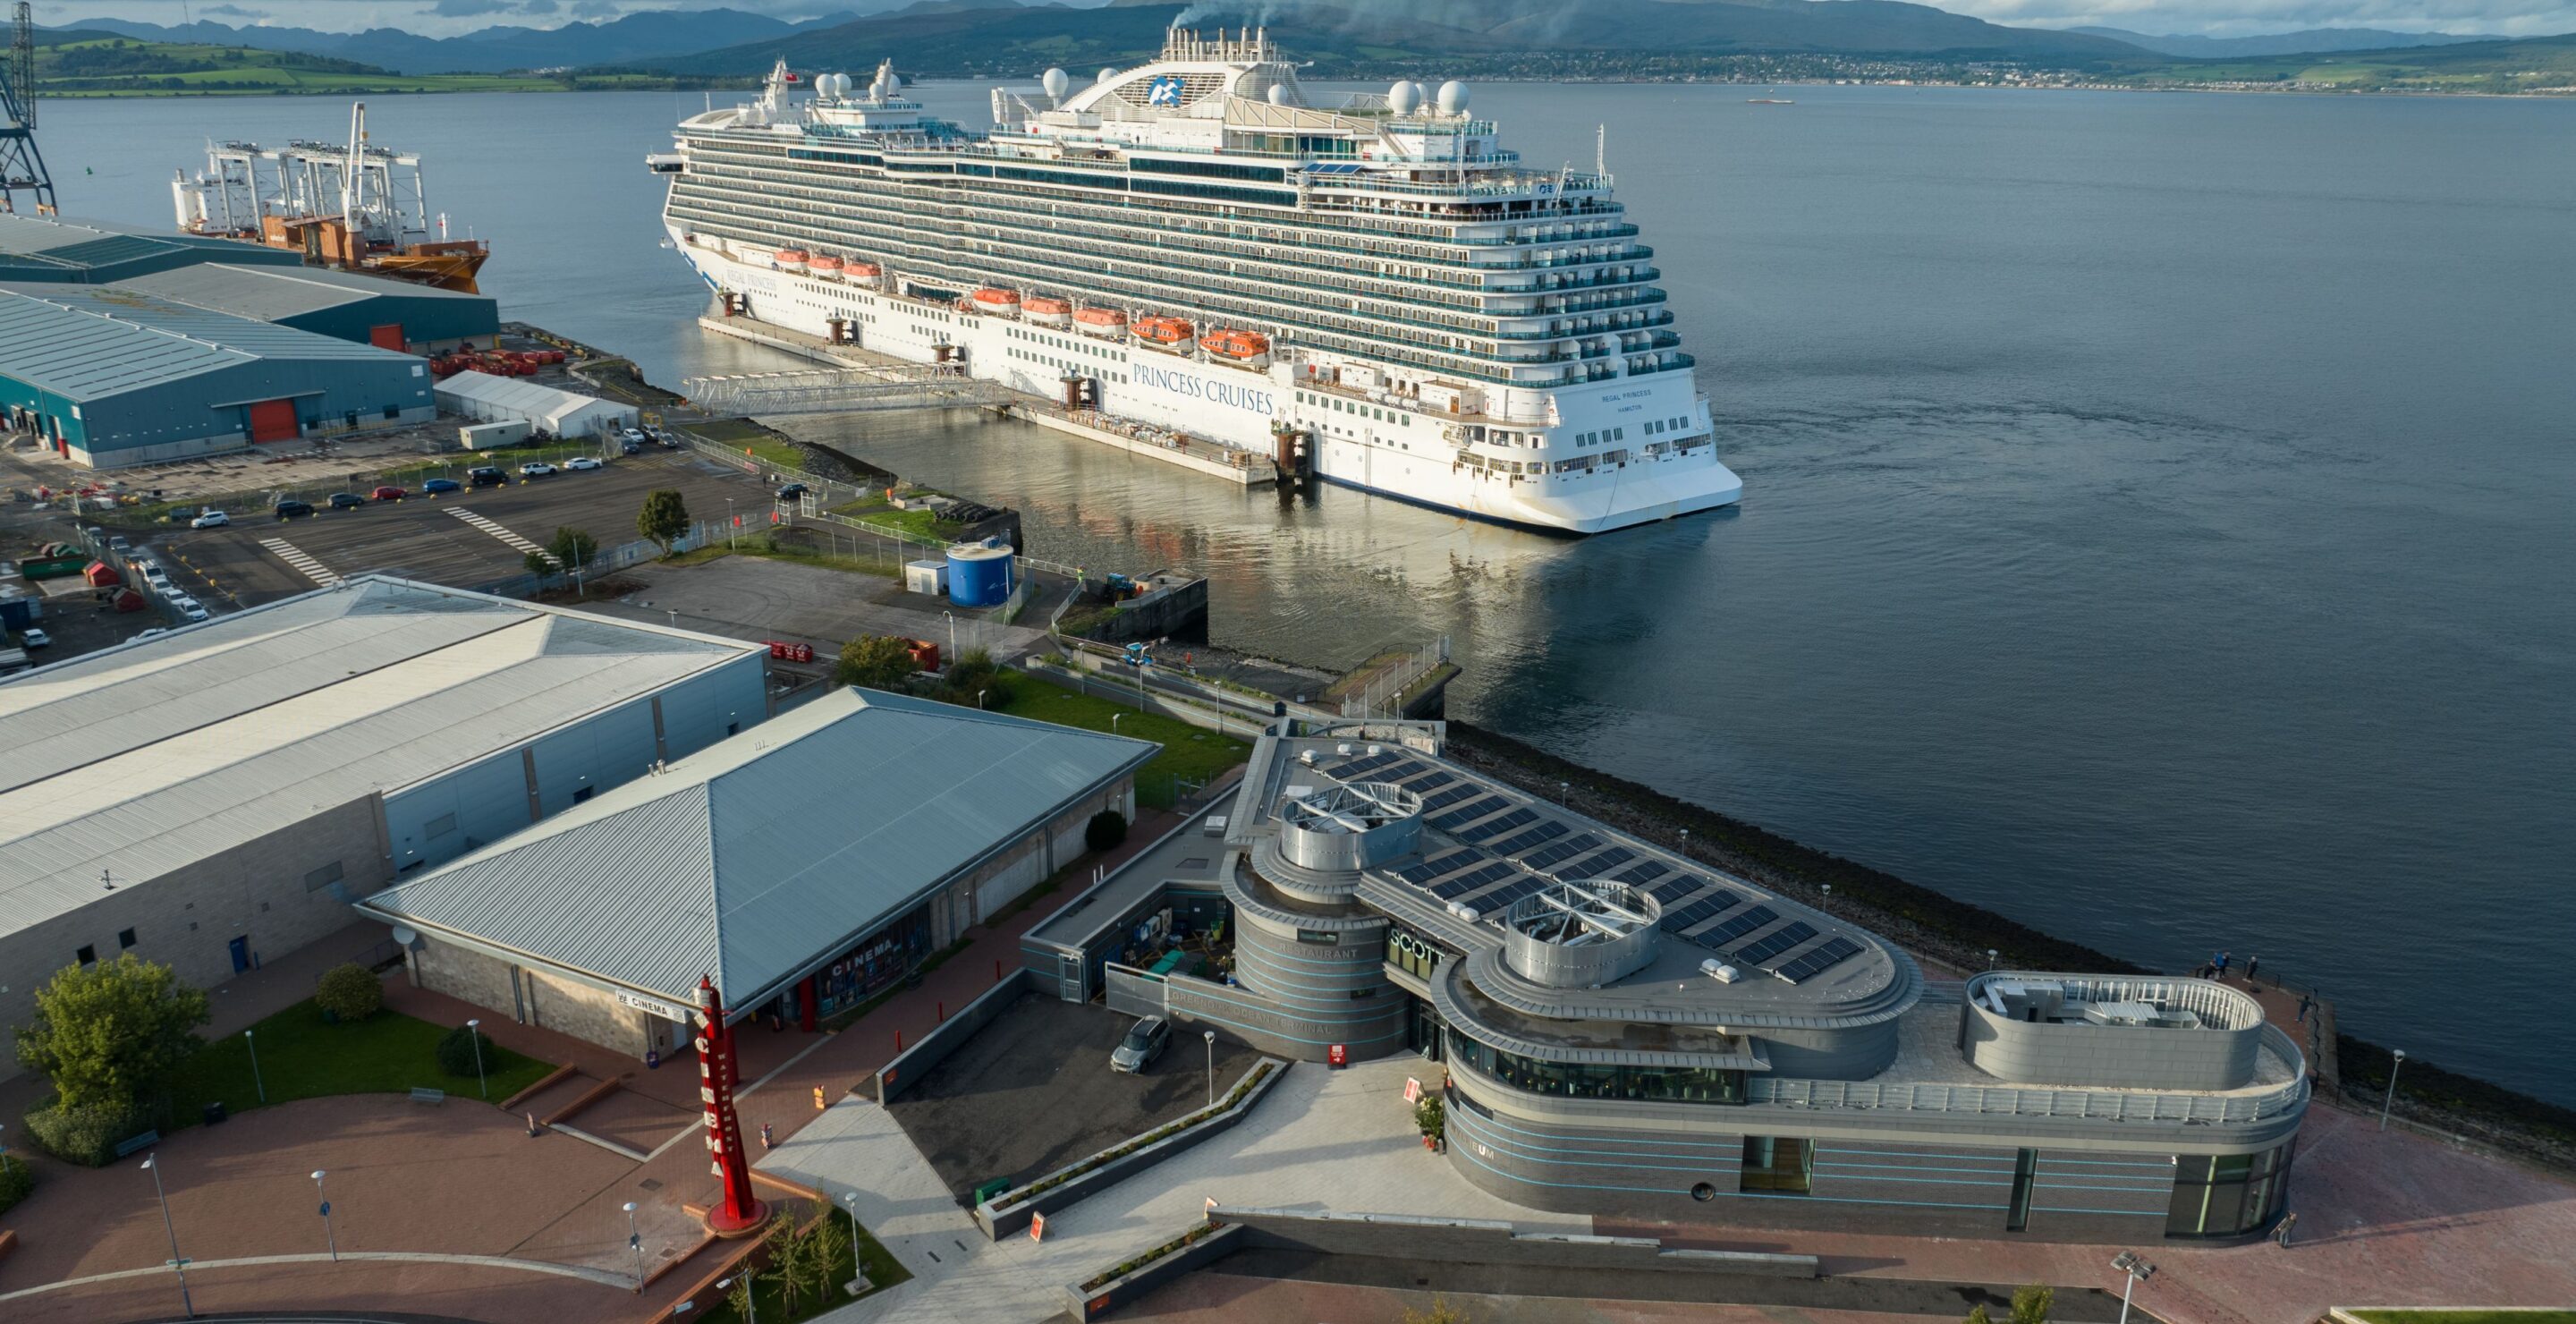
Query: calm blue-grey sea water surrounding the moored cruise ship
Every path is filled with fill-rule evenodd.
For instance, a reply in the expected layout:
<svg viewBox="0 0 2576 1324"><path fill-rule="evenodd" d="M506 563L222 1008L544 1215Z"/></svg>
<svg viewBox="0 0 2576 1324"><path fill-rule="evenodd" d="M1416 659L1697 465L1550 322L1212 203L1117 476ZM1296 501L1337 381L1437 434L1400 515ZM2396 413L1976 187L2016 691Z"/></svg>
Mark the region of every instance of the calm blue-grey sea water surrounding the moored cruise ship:
<svg viewBox="0 0 2576 1324"><path fill-rule="evenodd" d="M1620 196L1741 510L1592 541L1280 505L1018 425L814 420L1185 564L1224 641L1455 636L1458 716L2576 1102L2576 103L1479 88ZM930 88L976 118L981 85ZM376 98L507 314L654 376L693 327L641 155L696 95ZM70 214L330 100L49 103ZM95 173L85 173L95 170ZM2532 979L2543 984L2532 984Z"/></svg>

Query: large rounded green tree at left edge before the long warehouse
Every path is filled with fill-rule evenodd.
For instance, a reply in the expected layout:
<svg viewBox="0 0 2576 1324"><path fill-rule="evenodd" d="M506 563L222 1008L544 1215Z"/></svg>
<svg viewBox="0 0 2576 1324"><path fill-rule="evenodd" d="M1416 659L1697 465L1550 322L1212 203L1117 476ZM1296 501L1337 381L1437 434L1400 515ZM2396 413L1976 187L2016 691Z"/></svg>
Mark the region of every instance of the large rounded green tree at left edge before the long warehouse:
<svg viewBox="0 0 2576 1324"><path fill-rule="evenodd" d="M18 1061L54 1082L62 1108L137 1108L204 1046L206 989L170 966L124 953L64 966L36 989L36 1020L18 1028Z"/></svg>

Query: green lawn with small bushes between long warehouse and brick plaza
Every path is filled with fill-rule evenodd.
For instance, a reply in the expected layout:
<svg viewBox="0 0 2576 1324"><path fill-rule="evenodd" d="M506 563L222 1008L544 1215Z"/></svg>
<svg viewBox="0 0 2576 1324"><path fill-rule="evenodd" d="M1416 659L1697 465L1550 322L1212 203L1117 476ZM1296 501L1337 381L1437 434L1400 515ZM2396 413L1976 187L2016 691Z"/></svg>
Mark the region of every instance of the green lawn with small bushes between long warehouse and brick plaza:
<svg viewBox="0 0 2576 1324"><path fill-rule="evenodd" d="M399 1095L415 1087L479 1097L474 1077L459 1079L438 1069L438 1038L448 1030L451 1025L430 1025L399 1012L330 1025L322 1020L322 1007L296 1002L252 1025L260 1051L258 1082L250 1077L250 1043L242 1036L206 1043L170 1082L170 1128L196 1126L209 1102L222 1102L234 1113L260 1108L260 1084L268 1087L268 1102ZM489 1046L484 1066L495 1100L536 1084L554 1069L551 1061L526 1059L497 1043Z"/></svg>

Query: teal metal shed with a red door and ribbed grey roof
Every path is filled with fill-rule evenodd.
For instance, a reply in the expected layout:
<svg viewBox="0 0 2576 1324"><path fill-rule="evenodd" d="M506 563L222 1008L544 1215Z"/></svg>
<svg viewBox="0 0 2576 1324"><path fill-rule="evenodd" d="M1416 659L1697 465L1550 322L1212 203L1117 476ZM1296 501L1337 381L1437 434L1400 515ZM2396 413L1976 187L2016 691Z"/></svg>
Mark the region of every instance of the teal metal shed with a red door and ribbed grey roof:
<svg viewBox="0 0 2576 1324"><path fill-rule="evenodd" d="M93 469L438 415L425 361L129 288L0 283L0 415Z"/></svg>

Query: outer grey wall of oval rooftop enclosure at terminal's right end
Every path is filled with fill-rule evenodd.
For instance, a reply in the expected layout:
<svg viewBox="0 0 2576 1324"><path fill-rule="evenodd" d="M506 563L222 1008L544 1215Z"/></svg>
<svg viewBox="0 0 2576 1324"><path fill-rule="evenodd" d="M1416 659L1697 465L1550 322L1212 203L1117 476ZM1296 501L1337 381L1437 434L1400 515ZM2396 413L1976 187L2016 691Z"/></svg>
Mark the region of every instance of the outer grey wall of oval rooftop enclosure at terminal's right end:
<svg viewBox="0 0 2576 1324"><path fill-rule="evenodd" d="M1968 1061L2014 1084L2241 1090L2254 1079L2262 1023L2241 1030L2012 1020L1960 1007Z"/></svg>

